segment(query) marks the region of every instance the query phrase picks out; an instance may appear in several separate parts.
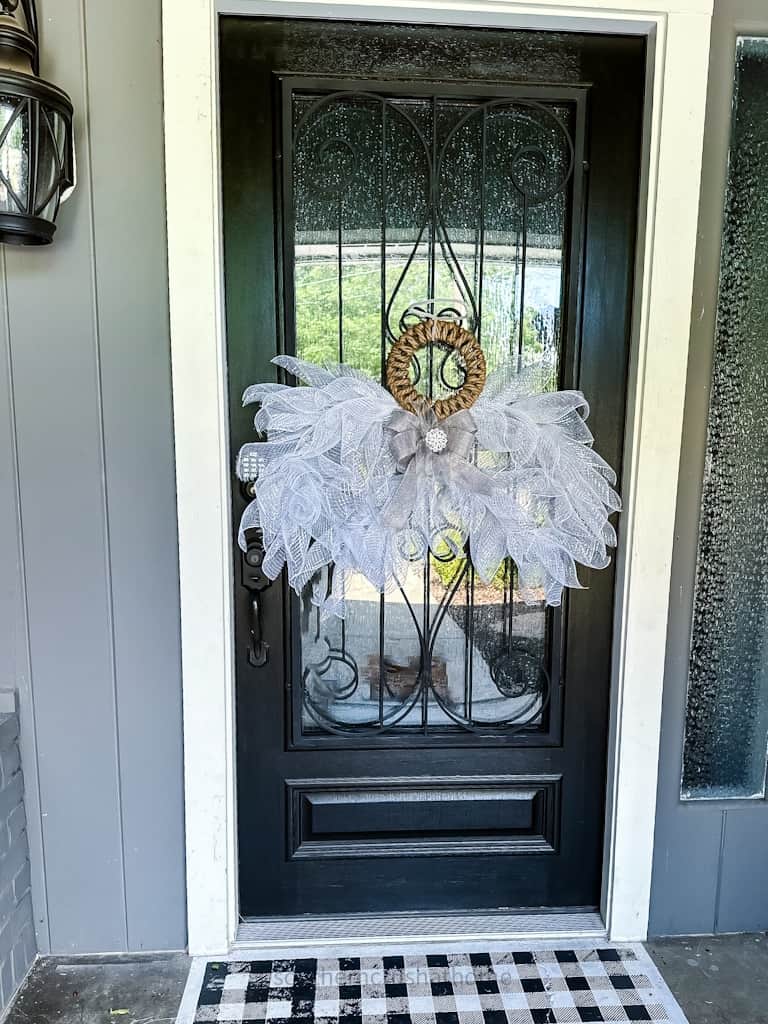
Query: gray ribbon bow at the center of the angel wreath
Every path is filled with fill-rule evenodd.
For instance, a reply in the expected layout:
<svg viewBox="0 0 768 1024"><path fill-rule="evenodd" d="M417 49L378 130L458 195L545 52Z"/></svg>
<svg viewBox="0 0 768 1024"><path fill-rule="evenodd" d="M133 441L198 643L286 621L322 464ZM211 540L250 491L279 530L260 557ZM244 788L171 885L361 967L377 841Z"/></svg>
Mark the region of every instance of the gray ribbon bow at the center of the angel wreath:
<svg viewBox="0 0 768 1024"><path fill-rule="evenodd" d="M427 445L427 434L434 428L442 430L447 439L441 452L433 452ZM444 420L438 420L426 404L418 414L397 410L387 421L386 429L397 472L402 474L399 486L384 509L387 526L402 528L408 524L424 487L436 488L442 484L486 496L493 493L493 479L469 461L477 427L466 410Z"/></svg>

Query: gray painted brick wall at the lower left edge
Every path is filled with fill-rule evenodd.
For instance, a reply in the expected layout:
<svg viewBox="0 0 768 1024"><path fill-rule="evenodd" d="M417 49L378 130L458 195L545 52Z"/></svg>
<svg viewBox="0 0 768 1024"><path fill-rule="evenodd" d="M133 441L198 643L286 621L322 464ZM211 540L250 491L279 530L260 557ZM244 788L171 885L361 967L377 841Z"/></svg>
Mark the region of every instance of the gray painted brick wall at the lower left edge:
<svg viewBox="0 0 768 1024"><path fill-rule="evenodd" d="M18 716L0 715L0 1011L36 952Z"/></svg>

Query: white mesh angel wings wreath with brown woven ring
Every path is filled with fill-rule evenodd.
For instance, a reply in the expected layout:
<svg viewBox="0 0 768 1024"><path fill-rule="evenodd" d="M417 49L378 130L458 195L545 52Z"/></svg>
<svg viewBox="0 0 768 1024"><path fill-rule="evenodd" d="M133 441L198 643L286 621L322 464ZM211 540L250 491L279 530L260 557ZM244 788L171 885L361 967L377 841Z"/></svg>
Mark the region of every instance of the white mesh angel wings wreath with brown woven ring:
<svg viewBox="0 0 768 1024"><path fill-rule="evenodd" d="M287 566L297 594L343 618L355 573L380 593L402 588L430 554L466 557L484 583L507 558L524 600L560 604L580 587L577 565L604 568L621 509L615 474L595 452L580 391L534 393L529 375L486 375L461 313L425 304L392 345L386 387L346 365L290 355L272 362L302 386L262 383L264 440L245 444L238 475L253 481L240 524L262 531L262 570ZM404 318L403 318L404 319ZM412 377L416 353L453 351L462 384L429 400Z"/></svg>

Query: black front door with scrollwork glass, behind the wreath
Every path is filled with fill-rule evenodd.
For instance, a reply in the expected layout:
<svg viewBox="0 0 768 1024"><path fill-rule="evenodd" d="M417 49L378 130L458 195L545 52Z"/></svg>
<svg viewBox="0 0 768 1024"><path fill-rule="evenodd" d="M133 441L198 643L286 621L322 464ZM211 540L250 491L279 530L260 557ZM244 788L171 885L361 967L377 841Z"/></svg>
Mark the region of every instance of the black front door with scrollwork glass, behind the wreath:
<svg viewBox="0 0 768 1024"><path fill-rule="evenodd" d="M276 352L379 377L438 300L492 371L584 390L618 469L643 43L221 28L232 453ZM456 386L444 353L422 364L420 386ZM236 522L247 500L234 481ZM611 569L552 609L446 551L401 592L360 578L341 621L236 562L245 915L597 906Z"/></svg>

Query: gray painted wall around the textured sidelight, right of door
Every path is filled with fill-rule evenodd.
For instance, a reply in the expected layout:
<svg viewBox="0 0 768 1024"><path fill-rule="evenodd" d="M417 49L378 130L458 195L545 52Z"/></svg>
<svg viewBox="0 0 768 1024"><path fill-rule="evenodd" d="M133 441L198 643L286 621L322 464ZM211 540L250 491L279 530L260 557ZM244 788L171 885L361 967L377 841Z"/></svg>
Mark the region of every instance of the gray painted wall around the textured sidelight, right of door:
<svg viewBox="0 0 768 1024"><path fill-rule="evenodd" d="M750 34L768 35L765 0L716 0L667 647L650 919L654 935L768 929L768 803L680 801L735 40Z"/></svg>

